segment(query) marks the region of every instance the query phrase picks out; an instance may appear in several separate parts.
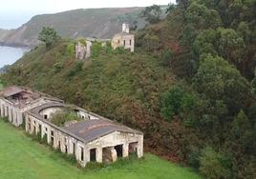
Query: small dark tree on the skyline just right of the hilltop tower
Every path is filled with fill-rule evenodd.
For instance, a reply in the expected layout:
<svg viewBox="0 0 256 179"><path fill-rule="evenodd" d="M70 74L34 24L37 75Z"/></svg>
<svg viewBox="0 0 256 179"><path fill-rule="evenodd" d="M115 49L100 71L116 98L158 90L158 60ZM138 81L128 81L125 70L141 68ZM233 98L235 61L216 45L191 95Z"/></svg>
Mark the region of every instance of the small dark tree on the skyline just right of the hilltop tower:
<svg viewBox="0 0 256 179"><path fill-rule="evenodd" d="M155 24L160 21L161 9L158 5L153 5L151 7L146 7L139 14L140 17L144 18L150 24Z"/></svg>

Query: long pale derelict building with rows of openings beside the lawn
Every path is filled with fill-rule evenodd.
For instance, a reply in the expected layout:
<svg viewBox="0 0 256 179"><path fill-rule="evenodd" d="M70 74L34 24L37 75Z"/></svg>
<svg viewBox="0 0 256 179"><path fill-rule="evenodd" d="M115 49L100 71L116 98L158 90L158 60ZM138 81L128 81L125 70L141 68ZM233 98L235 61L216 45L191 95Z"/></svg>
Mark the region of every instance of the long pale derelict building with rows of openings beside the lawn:
<svg viewBox="0 0 256 179"><path fill-rule="evenodd" d="M16 127L24 123L27 132L39 134L54 149L74 154L82 167L115 162L130 153L143 156L142 132L32 89L1 90L0 113Z"/></svg>

